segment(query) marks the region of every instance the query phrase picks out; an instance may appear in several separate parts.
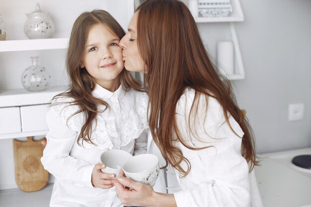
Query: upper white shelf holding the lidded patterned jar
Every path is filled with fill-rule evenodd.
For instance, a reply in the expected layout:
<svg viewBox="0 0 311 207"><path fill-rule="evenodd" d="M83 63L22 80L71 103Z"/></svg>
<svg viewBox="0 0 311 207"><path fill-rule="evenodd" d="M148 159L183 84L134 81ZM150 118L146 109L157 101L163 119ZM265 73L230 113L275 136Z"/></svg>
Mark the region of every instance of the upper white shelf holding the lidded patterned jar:
<svg viewBox="0 0 311 207"><path fill-rule="evenodd" d="M0 52L66 49L68 38L0 41Z"/></svg>

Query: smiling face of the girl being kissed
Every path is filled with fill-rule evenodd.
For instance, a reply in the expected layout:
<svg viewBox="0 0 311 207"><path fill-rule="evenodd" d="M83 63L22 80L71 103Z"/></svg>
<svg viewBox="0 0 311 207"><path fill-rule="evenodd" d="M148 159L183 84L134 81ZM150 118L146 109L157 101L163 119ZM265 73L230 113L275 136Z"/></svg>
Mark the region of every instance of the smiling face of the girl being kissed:
<svg viewBox="0 0 311 207"><path fill-rule="evenodd" d="M124 68L119 41L106 25L93 25L88 32L81 62L94 81L110 91L119 87L118 76Z"/></svg>

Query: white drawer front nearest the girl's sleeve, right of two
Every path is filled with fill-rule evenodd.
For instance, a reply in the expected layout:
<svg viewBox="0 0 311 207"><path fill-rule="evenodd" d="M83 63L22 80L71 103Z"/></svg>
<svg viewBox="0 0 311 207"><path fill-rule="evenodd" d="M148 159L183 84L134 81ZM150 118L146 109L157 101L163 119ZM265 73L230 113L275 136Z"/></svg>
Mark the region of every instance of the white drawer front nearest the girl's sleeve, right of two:
<svg viewBox="0 0 311 207"><path fill-rule="evenodd" d="M45 119L47 112L48 104L20 107L22 132L48 130Z"/></svg>

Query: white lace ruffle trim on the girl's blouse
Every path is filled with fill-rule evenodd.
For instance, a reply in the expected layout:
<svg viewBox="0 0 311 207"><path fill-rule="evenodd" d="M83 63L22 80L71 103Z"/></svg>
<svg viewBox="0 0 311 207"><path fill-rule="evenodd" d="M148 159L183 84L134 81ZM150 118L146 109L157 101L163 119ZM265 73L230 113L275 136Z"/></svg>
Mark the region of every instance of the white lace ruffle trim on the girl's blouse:
<svg viewBox="0 0 311 207"><path fill-rule="evenodd" d="M103 117L98 115L97 126L95 125L95 121L92 122L93 132L91 134L91 141L96 147L108 149L114 148L111 139L118 138L119 134L121 146L126 146L131 140L138 138L145 129L148 129L148 95L135 90L130 90L126 93L130 93L128 95L135 97L135 109L130 109L128 117L122 117L121 124L118 127L114 122L106 122ZM50 107L50 111L59 116L64 125L67 125L70 129L77 131L79 134L85 122L85 117L83 113L78 113L72 116L79 110L77 105L70 105L70 103L67 103L72 102L73 100L74 99L70 97L58 98ZM82 140L80 140L79 143L82 143L81 141ZM83 146L85 148L92 148L94 145L83 141Z"/></svg>

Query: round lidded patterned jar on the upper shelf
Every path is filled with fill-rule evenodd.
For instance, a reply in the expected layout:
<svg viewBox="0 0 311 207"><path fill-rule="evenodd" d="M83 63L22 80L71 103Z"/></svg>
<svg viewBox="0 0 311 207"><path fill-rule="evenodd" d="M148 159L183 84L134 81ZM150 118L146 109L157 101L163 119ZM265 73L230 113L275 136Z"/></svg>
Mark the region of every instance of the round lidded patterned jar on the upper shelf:
<svg viewBox="0 0 311 207"><path fill-rule="evenodd" d="M39 3L37 3L34 12L26 15L27 20L24 25L24 32L29 39L45 39L52 37L54 34L53 21L49 13L41 11Z"/></svg>

